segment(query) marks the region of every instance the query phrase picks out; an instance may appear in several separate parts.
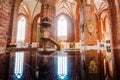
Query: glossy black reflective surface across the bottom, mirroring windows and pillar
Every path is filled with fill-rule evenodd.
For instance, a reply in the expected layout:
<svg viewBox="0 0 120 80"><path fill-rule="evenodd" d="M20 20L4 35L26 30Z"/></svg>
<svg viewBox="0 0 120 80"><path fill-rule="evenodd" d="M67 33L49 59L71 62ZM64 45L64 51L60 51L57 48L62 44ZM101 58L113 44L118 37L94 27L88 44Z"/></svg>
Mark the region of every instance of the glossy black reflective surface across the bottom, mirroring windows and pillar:
<svg viewBox="0 0 120 80"><path fill-rule="evenodd" d="M84 55L80 51L17 51L0 54L0 79L105 80L102 63L102 53L95 50Z"/></svg>

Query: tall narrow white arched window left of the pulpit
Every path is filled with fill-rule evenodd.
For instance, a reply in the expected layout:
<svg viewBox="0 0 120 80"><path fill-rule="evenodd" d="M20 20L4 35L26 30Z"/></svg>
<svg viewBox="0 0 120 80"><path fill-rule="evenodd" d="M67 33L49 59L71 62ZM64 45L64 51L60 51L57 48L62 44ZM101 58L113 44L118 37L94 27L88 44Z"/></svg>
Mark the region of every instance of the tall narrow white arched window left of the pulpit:
<svg viewBox="0 0 120 80"><path fill-rule="evenodd" d="M25 27L26 27L26 18L21 17L18 20L17 40L16 40L16 42L24 42L24 40L25 40Z"/></svg>

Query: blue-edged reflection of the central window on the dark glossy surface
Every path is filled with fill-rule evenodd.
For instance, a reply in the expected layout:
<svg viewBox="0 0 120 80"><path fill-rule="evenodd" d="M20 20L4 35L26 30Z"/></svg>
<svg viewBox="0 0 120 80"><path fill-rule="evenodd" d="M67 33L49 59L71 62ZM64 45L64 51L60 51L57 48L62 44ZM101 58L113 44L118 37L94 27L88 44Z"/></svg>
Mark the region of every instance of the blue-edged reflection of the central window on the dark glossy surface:
<svg viewBox="0 0 120 80"><path fill-rule="evenodd" d="M60 56L58 57L58 76L60 79L65 79L67 76L67 57L66 56Z"/></svg>

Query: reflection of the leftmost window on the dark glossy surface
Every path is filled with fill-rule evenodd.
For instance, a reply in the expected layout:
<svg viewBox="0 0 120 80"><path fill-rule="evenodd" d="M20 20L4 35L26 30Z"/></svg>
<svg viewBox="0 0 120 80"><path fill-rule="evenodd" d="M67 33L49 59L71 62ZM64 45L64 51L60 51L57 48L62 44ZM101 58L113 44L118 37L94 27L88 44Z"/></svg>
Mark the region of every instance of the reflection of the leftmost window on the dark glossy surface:
<svg viewBox="0 0 120 80"><path fill-rule="evenodd" d="M15 76L20 79L23 75L23 61L24 61L24 52L15 53Z"/></svg>

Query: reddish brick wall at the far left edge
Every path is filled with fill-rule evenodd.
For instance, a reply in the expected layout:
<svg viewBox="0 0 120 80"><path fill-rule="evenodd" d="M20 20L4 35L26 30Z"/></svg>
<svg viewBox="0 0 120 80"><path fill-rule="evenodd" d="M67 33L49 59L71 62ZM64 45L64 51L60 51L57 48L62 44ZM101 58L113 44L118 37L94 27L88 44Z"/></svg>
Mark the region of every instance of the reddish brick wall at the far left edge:
<svg viewBox="0 0 120 80"><path fill-rule="evenodd" d="M5 51L11 18L10 0L0 1L0 51Z"/></svg>

